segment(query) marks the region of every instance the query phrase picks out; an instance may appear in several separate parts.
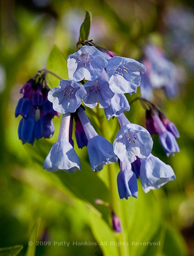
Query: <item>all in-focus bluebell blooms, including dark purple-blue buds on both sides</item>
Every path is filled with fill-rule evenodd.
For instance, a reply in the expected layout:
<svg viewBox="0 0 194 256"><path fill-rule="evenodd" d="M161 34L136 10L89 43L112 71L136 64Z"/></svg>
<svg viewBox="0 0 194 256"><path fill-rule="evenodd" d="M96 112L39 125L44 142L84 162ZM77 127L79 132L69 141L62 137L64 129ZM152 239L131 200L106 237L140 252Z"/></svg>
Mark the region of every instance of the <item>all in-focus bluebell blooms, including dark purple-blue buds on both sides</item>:
<svg viewBox="0 0 194 256"><path fill-rule="evenodd" d="M70 79L62 79L51 90L41 83L45 81L42 77L28 81L21 89L24 96L16 108L16 116L22 115L19 137L23 143L31 144L35 137L51 137L51 119L62 113L58 140L51 147L43 169L51 172L81 169L72 138L75 121L77 145L79 148L87 146L93 171L99 172L105 165L119 163L117 183L120 198L138 197L138 177L145 192L174 180L172 168L151 154L153 140L150 133L159 133L167 155L173 154L179 151L176 140L172 139L179 136L175 126L154 108L149 109L150 113L147 111L148 130L129 122L124 114L130 108L125 94L136 93L141 75L146 70L144 65L93 44L84 45L69 55L67 68ZM120 130L113 144L96 132L85 112L85 108L96 107L104 109L107 119L118 119ZM40 112L38 121L35 119L37 110ZM114 214L112 219L116 219Z"/></svg>

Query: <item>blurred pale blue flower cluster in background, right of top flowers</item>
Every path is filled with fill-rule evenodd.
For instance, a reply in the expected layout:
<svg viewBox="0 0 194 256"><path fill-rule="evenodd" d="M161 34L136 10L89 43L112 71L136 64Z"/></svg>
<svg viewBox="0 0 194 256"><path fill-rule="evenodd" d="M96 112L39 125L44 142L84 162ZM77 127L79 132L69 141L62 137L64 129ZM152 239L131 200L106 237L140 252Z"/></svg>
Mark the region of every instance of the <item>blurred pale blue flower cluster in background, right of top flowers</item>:
<svg viewBox="0 0 194 256"><path fill-rule="evenodd" d="M146 67L142 74L141 96L145 99L153 99L153 90L162 88L169 98L178 94L177 67L166 58L164 51L153 44L143 48L144 57L141 62Z"/></svg>

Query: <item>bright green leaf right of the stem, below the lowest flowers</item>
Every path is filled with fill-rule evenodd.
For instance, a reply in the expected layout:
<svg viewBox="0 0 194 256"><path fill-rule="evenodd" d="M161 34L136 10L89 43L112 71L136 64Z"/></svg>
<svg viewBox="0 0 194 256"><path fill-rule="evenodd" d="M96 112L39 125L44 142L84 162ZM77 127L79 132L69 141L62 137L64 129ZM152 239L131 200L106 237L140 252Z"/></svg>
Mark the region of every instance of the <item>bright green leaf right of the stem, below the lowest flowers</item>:
<svg viewBox="0 0 194 256"><path fill-rule="evenodd" d="M130 256L143 256L162 221L154 193L145 194L138 180L138 198L123 200L122 207L122 226L128 230ZM140 244L143 242L146 245Z"/></svg>

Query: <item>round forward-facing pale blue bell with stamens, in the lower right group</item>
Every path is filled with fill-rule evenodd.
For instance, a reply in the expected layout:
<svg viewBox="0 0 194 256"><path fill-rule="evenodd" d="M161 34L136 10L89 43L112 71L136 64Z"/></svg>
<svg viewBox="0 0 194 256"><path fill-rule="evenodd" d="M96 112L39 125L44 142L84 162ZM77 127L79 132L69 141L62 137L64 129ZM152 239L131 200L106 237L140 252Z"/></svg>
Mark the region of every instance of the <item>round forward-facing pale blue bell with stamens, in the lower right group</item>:
<svg viewBox="0 0 194 256"><path fill-rule="evenodd" d="M114 153L118 158L122 162L132 163L136 156L148 157L153 146L149 132L140 125L130 123L124 114L118 116L118 121L121 129L113 143Z"/></svg>

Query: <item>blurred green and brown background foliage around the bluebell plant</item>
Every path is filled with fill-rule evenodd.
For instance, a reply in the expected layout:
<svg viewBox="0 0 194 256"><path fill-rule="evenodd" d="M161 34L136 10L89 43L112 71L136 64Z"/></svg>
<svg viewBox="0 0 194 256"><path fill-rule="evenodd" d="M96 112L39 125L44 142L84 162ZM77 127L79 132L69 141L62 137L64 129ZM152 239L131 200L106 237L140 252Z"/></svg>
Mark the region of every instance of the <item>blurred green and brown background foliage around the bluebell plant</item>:
<svg viewBox="0 0 194 256"><path fill-rule="evenodd" d="M166 157L157 136L153 137L154 153L172 166L177 180L148 194L139 186L139 198L124 199L120 205L127 216L127 224L122 225L125 236L129 233L126 237L130 255L194 255L194 69L188 68L186 61L177 55L171 55L163 18L169 7L182 4L194 8L192 1L178 0L1 0L0 248L22 244L24 248L19 255L26 255L32 227L40 217L37 241L51 241L51 245L37 246L37 256L119 255L118 247L101 246L101 241L117 238L111 231L108 209L94 204L95 198L110 201L107 168L93 173L87 149L76 148L82 160L80 173L42 170L44 159L57 140L60 118L54 119L55 133L51 140L41 139L31 146L22 145L18 139L20 118L14 117L20 88L38 70L48 66L53 45L65 59L76 51L79 28L88 10L93 15L90 39L94 38L96 44L138 60L141 47L151 38L163 47L174 64L184 68L186 81L176 99L171 101L163 92L155 93L155 103L180 132L180 153ZM60 70L59 76L65 78L67 70L64 69L63 76L62 67L57 67L62 55L56 63L53 61L52 71ZM56 85L57 80L51 83ZM129 102L135 97L129 97ZM127 117L145 126L145 113L139 103L131 106ZM90 118L100 133L98 120ZM112 140L117 123L105 122ZM115 173L118 173L116 165ZM70 246L54 246L53 241L70 242ZM76 246L73 241L98 244ZM138 247L132 246L132 241L161 241L161 244L157 248Z"/></svg>

